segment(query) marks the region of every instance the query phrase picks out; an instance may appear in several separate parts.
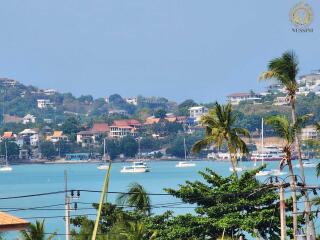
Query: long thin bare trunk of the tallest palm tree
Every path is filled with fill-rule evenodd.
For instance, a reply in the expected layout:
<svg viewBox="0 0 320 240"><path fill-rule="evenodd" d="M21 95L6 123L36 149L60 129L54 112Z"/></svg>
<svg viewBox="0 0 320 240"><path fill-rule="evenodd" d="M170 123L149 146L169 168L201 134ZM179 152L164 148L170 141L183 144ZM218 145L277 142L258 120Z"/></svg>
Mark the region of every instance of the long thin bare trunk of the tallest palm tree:
<svg viewBox="0 0 320 240"><path fill-rule="evenodd" d="M291 100L291 115L292 115L292 123L295 124L297 121L295 99ZM303 162L302 162L301 144L300 144L300 138L299 138L298 134L296 135L296 144L297 144L297 148L298 148L300 175L301 175L303 184L306 184L306 179L305 179L305 175L304 175L304 167L303 167ZM305 205L305 212L306 212L305 221L306 221L307 239L309 238L310 233L311 233L311 235L312 235L311 239L315 240L316 239L316 230L315 230L313 219L310 219L311 206L310 206L308 191L306 191L306 193L304 195L304 205Z"/></svg>

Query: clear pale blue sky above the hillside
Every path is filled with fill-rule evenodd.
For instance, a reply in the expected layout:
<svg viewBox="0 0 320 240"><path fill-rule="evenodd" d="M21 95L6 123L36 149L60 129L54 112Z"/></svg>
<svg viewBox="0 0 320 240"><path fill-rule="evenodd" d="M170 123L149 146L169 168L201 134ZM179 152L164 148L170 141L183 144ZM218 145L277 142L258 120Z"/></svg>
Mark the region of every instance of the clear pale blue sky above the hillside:
<svg viewBox="0 0 320 240"><path fill-rule="evenodd" d="M268 60L288 49L320 69L313 33L292 32L293 0L8 0L0 3L0 76L76 95L224 101L261 90Z"/></svg>

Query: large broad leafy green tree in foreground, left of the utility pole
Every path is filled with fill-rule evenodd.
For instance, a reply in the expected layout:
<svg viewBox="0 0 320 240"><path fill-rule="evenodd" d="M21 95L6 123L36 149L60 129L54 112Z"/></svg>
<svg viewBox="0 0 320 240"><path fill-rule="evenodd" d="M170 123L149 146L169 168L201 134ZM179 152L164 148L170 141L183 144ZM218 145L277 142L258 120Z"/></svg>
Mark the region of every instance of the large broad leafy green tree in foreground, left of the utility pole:
<svg viewBox="0 0 320 240"><path fill-rule="evenodd" d="M217 239L226 235L279 239L279 202L274 189L255 178L258 170L239 178L219 176L210 169L200 172L204 181L187 181L178 190L166 189L185 203L195 205L196 215L151 219L159 239Z"/></svg>

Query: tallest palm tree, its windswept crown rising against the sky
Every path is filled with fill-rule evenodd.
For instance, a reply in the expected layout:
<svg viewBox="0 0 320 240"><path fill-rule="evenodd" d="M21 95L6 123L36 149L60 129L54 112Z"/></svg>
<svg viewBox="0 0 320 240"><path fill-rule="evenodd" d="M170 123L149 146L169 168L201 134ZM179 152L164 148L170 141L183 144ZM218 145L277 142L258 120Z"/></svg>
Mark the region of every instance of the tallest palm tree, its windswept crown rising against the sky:
<svg viewBox="0 0 320 240"><path fill-rule="evenodd" d="M259 79L267 80L267 79L276 79L280 82L287 91L287 98L291 105L291 117L292 123L295 124L297 121L296 114L296 93L298 91L298 83L296 81L298 72L299 72L299 61L298 57L293 51L286 51L282 54L281 57L272 59L268 64L268 70L263 72ZM300 165L300 174L303 182L305 183L305 175L304 175L304 167L302 162L302 154L301 154L301 144L299 136L296 135L295 141L297 143L298 148L298 157L299 157L299 165ZM308 197L308 193L304 195L305 197L305 208L306 208L306 232L308 233L308 223L309 223L309 215L310 215L310 201ZM315 227L313 220L311 219L311 234L315 236Z"/></svg>

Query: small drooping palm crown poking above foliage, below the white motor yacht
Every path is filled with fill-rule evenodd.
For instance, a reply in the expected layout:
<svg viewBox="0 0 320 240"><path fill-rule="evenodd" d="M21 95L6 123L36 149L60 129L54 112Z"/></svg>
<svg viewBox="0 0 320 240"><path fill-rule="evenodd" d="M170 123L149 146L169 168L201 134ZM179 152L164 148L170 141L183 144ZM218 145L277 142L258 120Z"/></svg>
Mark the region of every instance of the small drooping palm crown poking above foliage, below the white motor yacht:
<svg viewBox="0 0 320 240"><path fill-rule="evenodd" d="M116 199L119 205L128 205L145 214L151 213L151 200L142 185L139 183L131 183L127 193L121 193Z"/></svg>

